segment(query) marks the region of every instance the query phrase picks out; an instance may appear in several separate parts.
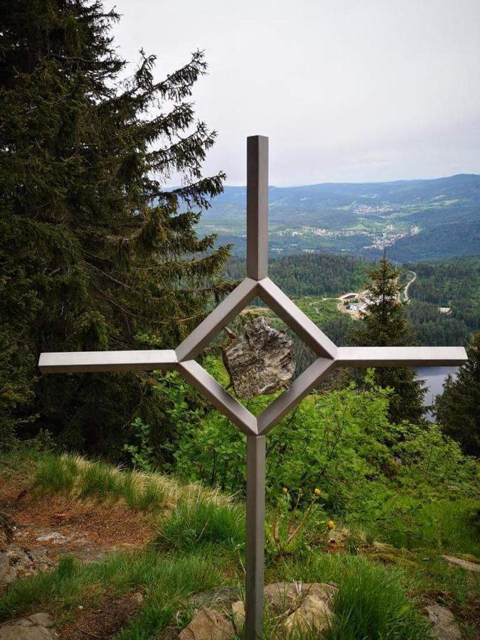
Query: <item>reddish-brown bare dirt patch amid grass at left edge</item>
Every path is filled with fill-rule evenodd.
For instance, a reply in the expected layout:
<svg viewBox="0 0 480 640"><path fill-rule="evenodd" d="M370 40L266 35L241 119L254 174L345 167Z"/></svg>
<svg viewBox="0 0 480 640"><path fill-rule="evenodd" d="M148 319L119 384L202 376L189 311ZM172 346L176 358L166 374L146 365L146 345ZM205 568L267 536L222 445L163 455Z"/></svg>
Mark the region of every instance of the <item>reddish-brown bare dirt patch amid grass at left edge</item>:
<svg viewBox="0 0 480 640"><path fill-rule="evenodd" d="M0 476L0 483L0 585L54 567L62 555L95 562L154 535L153 516L121 503L37 496L18 478Z"/></svg>

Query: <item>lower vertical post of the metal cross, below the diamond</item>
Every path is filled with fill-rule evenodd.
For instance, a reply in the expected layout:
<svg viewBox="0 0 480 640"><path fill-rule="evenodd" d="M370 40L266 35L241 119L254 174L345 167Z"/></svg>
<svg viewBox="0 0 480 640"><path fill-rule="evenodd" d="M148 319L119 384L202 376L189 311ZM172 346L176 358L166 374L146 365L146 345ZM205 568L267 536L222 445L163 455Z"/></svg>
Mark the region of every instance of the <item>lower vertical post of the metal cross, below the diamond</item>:
<svg viewBox="0 0 480 640"><path fill-rule="evenodd" d="M265 565L265 436L247 435L245 638L262 638Z"/></svg>

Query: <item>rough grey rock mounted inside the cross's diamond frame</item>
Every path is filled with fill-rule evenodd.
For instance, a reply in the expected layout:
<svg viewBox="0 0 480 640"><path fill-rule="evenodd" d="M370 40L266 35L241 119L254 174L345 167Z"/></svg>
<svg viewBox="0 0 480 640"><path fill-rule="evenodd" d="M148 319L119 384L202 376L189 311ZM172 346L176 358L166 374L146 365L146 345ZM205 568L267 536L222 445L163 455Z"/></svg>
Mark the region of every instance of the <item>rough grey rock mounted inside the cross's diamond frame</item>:
<svg viewBox="0 0 480 640"><path fill-rule="evenodd" d="M238 398L255 398L287 385L295 372L292 340L260 316L223 350L223 362Z"/></svg>

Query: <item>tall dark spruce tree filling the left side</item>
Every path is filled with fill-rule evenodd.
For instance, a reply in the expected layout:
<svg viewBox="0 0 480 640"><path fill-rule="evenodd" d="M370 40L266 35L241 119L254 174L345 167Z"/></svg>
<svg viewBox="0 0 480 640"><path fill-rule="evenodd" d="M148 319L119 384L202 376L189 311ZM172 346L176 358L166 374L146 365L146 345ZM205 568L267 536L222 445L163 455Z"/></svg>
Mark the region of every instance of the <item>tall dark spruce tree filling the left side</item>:
<svg viewBox="0 0 480 640"><path fill-rule="evenodd" d="M98 0L0 7L0 410L69 446L115 454L140 415L166 428L146 374L39 377L41 351L172 348L208 304L228 247L194 226L224 175L197 122L201 52L166 79L126 62ZM171 176L178 188L165 188ZM33 427L32 427L33 428Z"/></svg>

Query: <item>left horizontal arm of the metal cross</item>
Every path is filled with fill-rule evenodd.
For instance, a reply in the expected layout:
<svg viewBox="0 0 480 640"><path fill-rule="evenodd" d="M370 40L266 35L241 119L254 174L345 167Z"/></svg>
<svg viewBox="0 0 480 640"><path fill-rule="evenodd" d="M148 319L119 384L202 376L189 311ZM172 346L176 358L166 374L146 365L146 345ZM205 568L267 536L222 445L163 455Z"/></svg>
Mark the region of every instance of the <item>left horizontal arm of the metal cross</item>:
<svg viewBox="0 0 480 640"><path fill-rule="evenodd" d="M153 371L176 368L173 349L161 351L63 351L41 353L41 373L84 373L87 371Z"/></svg>

